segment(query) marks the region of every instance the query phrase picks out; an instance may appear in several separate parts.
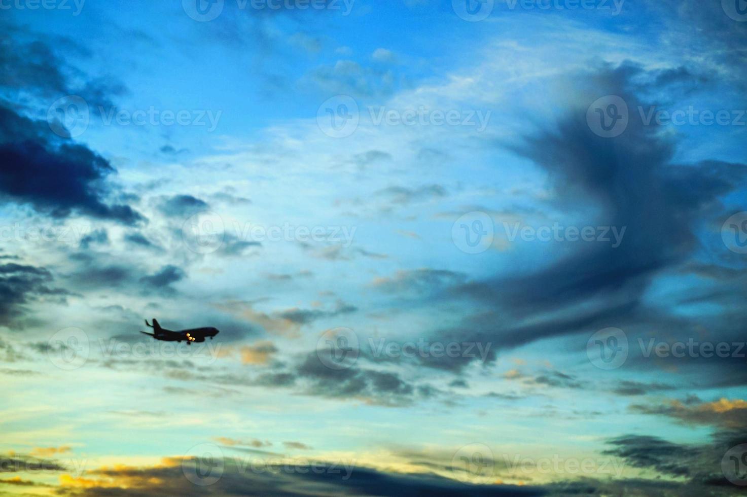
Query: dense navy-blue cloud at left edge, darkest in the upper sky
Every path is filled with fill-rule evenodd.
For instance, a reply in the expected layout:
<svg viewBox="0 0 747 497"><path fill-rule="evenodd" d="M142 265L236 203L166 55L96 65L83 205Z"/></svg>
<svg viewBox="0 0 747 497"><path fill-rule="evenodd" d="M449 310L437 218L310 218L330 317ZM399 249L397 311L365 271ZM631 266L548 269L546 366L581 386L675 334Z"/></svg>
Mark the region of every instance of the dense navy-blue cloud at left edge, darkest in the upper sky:
<svg viewBox="0 0 747 497"><path fill-rule="evenodd" d="M109 162L87 146L62 141L47 123L0 106L0 197L52 217L84 214L132 225L143 217L109 204Z"/></svg>

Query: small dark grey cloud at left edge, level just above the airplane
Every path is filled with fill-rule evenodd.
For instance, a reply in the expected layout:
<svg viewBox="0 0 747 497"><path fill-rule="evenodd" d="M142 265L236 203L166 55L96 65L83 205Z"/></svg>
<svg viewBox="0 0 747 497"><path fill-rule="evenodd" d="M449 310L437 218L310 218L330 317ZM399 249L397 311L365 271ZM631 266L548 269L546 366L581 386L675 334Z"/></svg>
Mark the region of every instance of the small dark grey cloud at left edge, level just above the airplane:
<svg viewBox="0 0 747 497"><path fill-rule="evenodd" d="M7 326L23 315L23 305L36 300L64 301L71 295L53 288L52 273L46 268L16 263L0 265L0 325Z"/></svg>

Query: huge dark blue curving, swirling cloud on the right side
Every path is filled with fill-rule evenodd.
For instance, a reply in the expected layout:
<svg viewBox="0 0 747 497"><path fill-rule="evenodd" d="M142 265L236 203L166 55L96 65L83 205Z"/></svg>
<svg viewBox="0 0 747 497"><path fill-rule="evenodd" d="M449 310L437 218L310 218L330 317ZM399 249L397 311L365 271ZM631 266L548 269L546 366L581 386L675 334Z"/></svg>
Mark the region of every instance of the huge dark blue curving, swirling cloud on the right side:
<svg viewBox="0 0 747 497"><path fill-rule="evenodd" d="M622 96L634 109L644 105L638 94L655 87L656 75L624 63L589 73L580 84L595 94ZM503 146L547 174L554 209L595 212L577 220L580 226L625 227L622 244L578 245L521 277L496 275L444 290L444 297L467 298L484 309L439 336L512 348L610 323L623 327L649 318L666 323L669 316L657 317L642 303L644 292L657 274L692 256L700 243L698 224L722 212L720 199L744 185L747 173L744 164L716 160L675 164L676 138L634 117L619 137L601 138L586 123L586 108Z"/></svg>

